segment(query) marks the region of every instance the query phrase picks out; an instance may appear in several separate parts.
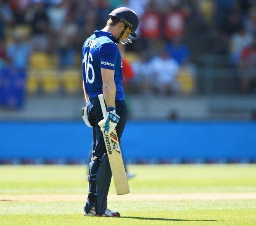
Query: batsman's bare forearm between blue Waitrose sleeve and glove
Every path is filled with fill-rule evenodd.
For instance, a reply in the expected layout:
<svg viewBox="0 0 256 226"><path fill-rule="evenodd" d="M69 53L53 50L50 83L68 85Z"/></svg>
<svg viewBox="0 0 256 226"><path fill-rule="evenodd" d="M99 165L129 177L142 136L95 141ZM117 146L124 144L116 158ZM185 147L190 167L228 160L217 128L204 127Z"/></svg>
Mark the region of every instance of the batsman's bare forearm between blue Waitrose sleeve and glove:
<svg viewBox="0 0 256 226"><path fill-rule="evenodd" d="M114 70L101 68L101 75L102 75L102 90L103 95L105 98L105 102L107 107L115 107L115 80L114 80Z"/></svg>

